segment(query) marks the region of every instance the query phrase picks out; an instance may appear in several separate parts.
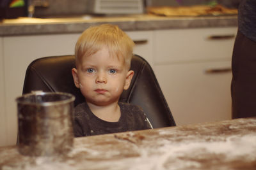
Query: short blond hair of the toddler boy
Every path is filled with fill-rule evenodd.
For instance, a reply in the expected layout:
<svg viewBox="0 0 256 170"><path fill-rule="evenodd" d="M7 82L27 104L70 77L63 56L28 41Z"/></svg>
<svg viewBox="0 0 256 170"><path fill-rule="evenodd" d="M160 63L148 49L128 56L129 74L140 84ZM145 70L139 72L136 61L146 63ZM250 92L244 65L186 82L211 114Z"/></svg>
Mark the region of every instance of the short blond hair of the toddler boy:
<svg viewBox="0 0 256 170"><path fill-rule="evenodd" d="M76 43L76 66L83 57L89 57L106 46L109 55L123 57L128 67L131 65L134 42L118 26L103 24L86 29Z"/></svg>

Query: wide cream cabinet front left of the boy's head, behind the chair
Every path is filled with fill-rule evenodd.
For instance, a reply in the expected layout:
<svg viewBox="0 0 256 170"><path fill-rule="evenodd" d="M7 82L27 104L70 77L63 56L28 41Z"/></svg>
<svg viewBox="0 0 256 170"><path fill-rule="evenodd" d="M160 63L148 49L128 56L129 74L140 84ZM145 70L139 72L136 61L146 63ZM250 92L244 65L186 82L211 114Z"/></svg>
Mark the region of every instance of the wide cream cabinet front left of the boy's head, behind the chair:
<svg viewBox="0 0 256 170"><path fill-rule="evenodd" d="M26 69L35 59L52 55L74 54L79 34L4 37L4 87L6 92L6 145L17 140L17 106L22 95Z"/></svg>

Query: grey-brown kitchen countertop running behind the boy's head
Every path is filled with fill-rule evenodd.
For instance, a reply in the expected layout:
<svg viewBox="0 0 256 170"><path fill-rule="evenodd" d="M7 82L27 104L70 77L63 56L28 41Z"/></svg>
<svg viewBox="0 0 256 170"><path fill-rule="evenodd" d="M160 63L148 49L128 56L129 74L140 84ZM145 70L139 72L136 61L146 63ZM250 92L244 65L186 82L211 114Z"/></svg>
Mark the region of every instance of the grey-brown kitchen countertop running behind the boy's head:
<svg viewBox="0 0 256 170"><path fill-rule="evenodd" d="M95 17L84 15L70 18L16 18L0 22L0 36L30 34L80 33L90 25L115 24L124 31L157 29L186 29L202 27L234 27L237 16L212 17L161 17L157 15L125 15Z"/></svg>

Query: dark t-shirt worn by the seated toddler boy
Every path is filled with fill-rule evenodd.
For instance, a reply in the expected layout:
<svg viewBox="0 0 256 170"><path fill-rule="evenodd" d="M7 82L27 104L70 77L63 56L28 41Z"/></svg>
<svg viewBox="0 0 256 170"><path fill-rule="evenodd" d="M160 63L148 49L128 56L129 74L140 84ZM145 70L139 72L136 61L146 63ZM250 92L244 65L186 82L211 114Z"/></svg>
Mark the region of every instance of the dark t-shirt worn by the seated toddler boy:
<svg viewBox="0 0 256 170"><path fill-rule="evenodd" d="M118 122L107 122L96 117L87 103L78 104L75 108L75 137L152 129L140 107L128 103L118 105L121 111Z"/></svg>

